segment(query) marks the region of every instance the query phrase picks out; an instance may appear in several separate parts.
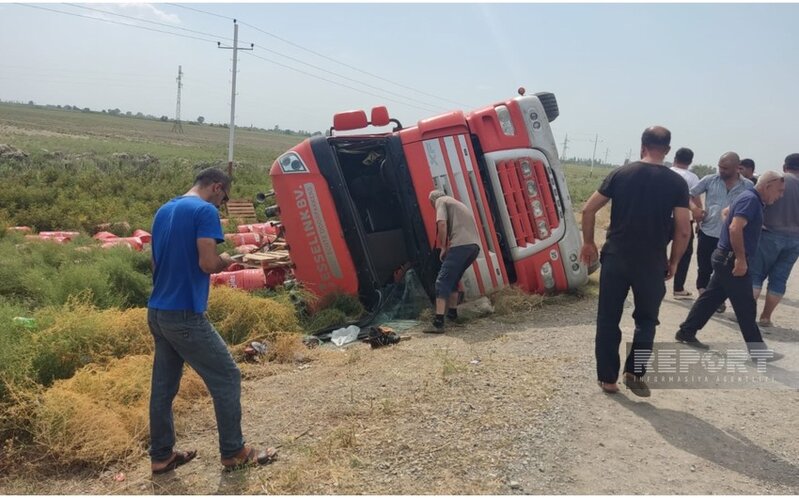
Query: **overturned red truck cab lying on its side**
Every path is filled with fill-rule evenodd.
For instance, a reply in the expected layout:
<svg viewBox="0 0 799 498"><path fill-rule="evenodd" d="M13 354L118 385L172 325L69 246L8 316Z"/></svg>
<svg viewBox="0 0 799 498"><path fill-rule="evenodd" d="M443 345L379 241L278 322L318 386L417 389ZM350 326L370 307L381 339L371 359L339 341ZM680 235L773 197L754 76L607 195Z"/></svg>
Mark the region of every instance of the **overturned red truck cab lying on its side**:
<svg viewBox="0 0 799 498"><path fill-rule="evenodd" d="M277 206L267 209L279 213L296 278L318 295L358 295L369 306L398 269L415 267L432 292L438 261L428 194L437 188L477 223L481 252L462 281L466 299L511 284L535 293L583 284L580 232L550 129L557 100L519 93L407 128L385 107L369 119L339 113L330 136L278 157ZM369 126L393 130L363 131Z"/></svg>

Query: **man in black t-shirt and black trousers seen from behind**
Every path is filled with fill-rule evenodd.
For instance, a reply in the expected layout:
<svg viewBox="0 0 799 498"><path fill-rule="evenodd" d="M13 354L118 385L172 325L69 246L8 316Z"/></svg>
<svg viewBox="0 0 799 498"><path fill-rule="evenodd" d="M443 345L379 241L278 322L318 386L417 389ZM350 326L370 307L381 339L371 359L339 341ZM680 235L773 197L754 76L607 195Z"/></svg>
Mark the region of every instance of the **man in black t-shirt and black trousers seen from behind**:
<svg viewBox="0 0 799 498"><path fill-rule="evenodd" d="M653 126L644 130L641 161L611 172L583 208L580 258L589 265L598 256L594 242L596 212L613 200L610 228L600 258L595 349L597 379L607 393L618 391L619 321L632 288L635 335L624 365L624 383L634 394L649 396L649 388L641 377L646 373L655 327L660 323L658 313L666 294L665 280L674 276L688 245L691 231L688 185L663 165L670 142L671 132L666 128ZM672 237L671 255L667 259L666 246Z"/></svg>

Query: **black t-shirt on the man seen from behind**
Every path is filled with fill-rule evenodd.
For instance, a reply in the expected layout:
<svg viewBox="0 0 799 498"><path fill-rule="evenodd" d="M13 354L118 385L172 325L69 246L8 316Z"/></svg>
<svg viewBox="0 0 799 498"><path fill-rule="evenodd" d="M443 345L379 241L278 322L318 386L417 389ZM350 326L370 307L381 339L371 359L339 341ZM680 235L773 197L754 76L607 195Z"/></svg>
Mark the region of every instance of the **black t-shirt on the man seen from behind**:
<svg viewBox="0 0 799 498"><path fill-rule="evenodd" d="M673 210L688 207L685 180L666 166L637 161L613 170L599 193L613 201L602 251L662 260L674 227Z"/></svg>

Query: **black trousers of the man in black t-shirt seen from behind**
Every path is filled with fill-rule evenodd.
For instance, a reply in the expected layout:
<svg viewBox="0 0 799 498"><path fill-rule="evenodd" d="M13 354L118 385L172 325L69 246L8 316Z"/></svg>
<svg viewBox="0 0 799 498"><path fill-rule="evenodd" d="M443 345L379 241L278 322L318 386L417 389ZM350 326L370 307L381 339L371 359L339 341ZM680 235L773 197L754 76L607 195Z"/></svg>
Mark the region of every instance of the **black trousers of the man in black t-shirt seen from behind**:
<svg viewBox="0 0 799 498"><path fill-rule="evenodd" d="M596 371L602 382L616 382L619 377L619 322L624 312L624 300L633 291L635 333L624 371L635 375L646 373L646 363L655 341L655 327L660 324L660 303L666 294L663 280L665 255L653 261L635 261L619 254L601 256L599 274L599 308L596 320Z"/></svg>

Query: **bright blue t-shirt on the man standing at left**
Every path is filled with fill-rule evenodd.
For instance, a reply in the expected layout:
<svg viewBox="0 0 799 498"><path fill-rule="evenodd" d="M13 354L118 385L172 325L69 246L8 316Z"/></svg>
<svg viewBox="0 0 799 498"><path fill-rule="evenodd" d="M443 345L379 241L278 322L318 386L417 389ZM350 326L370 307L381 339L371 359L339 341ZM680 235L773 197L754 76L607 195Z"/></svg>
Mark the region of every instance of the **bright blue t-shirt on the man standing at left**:
<svg viewBox="0 0 799 498"><path fill-rule="evenodd" d="M224 241L219 212L199 197L175 197L155 213L150 308L203 313L211 277L200 268L197 239Z"/></svg>

